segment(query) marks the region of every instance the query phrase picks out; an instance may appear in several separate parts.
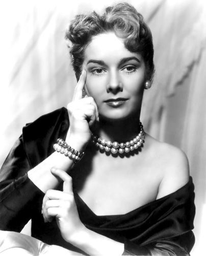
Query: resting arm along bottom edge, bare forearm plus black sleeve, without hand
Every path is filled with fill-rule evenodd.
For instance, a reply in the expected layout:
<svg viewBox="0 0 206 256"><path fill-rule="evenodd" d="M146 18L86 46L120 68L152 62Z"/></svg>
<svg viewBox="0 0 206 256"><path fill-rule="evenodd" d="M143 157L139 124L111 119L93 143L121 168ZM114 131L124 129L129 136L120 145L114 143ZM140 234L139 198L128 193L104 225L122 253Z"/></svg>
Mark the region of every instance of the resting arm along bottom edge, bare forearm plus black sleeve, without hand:
<svg viewBox="0 0 206 256"><path fill-rule="evenodd" d="M194 235L191 232L184 234L185 239L194 242ZM184 238L165 239L149 245L140 246L129 240L124 243L116 242L110 238L102 236L90 229L82 229L70 237L68 242L79 247L89 255L167 255L167 256L189 256L186 248L179 245L178 240Z"/></svg>

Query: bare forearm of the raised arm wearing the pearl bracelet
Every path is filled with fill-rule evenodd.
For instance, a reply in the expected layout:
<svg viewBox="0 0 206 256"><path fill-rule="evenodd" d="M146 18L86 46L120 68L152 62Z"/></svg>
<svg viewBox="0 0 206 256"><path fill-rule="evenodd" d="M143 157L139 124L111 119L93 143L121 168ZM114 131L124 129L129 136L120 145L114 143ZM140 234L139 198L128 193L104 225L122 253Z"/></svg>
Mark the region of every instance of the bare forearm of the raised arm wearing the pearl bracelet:
<svg viewBox="0 0 206 256"><path fill-rule="evenodd" d="M75 138L68 139L68 144L77 151L82 151L84 145L81 141ZM54 152L47 157L40 164L35 166L28 172L29 179L45 193L48 189L54 189L58 184L58 179L51 174L51 168L62 169L65 172L69 172L72 168L73 160L66 157L64 154Z"/></svg>

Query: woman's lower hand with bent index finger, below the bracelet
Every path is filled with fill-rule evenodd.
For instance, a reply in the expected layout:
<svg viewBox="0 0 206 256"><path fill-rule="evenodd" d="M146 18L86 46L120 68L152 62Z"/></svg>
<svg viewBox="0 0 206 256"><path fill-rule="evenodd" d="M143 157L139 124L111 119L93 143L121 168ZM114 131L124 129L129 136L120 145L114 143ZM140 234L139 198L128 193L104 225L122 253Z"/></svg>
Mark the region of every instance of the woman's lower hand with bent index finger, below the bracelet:
<svg viewBox="0 0 206 256"><path fill-rule="evenodd" d="M85 226L80 220L74 201L71 177L61 169L52 169L51 173L63 180L63 191L47 190L42 203L42 215L45 222L51 222L56 218L62 237L71 241L78 236Z"/></svg>

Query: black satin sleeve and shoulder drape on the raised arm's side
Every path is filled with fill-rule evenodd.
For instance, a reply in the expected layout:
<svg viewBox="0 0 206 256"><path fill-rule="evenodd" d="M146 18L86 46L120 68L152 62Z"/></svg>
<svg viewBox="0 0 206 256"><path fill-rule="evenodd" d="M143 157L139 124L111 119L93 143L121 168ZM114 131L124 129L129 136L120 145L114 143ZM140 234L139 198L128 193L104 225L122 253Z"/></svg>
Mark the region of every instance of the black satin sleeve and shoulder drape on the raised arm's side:
<svg viewBox="0 0 206 256"><path fill-rule="evenodd" d="M54 152L54 141L66 137L68 126L67 109L61 108L23 127L0 170L0 229L20 231L35 214L44 193L27 173Z"/></svg>

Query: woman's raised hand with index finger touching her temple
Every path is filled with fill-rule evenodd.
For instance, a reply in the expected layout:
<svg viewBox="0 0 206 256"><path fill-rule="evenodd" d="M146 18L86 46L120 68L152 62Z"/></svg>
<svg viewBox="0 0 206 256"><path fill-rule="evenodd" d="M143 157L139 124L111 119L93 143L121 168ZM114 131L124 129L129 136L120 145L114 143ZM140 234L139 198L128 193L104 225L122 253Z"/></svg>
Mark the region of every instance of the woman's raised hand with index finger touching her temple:
<svg viewBox="0 0 206 256"><path fill-rule="evenodd" d="M84 70L76 84L72 101L67 105L70 122L66 138L68 143L72 139L80 141L82 145L87 144L91 137L90 127L98 121L98 109L94 99L88 96L82 98L86 77L87 72Z"/></svg>

